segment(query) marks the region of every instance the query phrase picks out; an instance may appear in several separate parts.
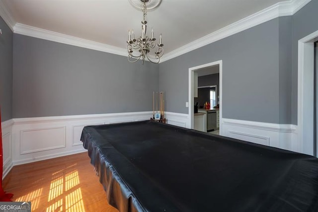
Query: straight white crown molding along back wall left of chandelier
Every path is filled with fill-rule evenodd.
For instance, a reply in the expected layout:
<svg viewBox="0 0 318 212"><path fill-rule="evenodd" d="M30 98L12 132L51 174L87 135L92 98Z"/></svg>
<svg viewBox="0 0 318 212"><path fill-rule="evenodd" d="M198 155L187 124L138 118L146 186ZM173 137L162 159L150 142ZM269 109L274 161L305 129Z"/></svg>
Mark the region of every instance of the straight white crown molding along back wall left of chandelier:
<svg viewBox="0 0 318 212"><path fill-rule="evenodd" d="M82 39L46 29L41 29L21 23L16 23L13 27L13 32L16 34L27 35L44 40L50 40L58 43L69 44L73 46L79 46L86 49L93 49L102 52L108 52L111 54L117 54L127 56L127 50L104 43L99 43L91 40Z"/></svg>

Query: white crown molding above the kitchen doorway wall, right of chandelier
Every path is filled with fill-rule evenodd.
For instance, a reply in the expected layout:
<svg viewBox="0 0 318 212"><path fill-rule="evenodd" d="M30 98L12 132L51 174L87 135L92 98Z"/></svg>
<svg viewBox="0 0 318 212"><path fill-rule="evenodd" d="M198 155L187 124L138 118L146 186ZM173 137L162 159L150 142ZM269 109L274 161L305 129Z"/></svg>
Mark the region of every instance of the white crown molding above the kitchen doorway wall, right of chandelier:
<svg viewBox="0 0 318 212"><path fill-rule="evenodd" d="M278 2L261 11L242 18L239 21L234 22L224 28L212 32L211 34L208 34L191 43L181 46L180 48L177 48L169 53L166 53L162 56L160 63L190 52L192 50L198 49L210 43L214 43L218 40L229 37L238 32L249 29L253 26L272 20L274 18L293 15L310 1L311 0L289 0Z"/></svg>

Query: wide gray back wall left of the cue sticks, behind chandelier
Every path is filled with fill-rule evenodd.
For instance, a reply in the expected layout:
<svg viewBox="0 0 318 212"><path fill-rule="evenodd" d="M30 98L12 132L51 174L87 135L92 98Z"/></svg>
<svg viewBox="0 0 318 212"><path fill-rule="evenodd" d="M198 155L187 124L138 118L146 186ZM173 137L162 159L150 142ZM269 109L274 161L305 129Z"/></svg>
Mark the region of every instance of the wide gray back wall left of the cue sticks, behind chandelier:
<svg viewBox="0 0 318 212"><path fill-rule="evenodd" d="M151 111L158 68L14 34L13 117Z"/></svg>

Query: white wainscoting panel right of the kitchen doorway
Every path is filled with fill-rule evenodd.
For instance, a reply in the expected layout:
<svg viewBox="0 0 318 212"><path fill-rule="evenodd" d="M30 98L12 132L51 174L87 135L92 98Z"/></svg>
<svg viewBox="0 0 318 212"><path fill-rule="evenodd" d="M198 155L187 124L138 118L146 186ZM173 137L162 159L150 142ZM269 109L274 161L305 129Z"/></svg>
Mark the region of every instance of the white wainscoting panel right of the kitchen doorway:
<svg viewBox="0 0 318 212"><path fill-rule="evenodd" d="M221 124L223 136L302 153L296 125L228 118L223 118Z"/></svg>

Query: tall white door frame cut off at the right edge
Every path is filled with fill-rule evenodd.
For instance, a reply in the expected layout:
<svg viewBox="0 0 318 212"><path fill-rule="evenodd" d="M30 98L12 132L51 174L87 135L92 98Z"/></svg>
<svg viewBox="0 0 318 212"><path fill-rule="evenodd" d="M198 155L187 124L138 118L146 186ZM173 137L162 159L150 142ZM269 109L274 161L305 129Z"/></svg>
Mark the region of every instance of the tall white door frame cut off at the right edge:
<svg viewBox="0 0 318 212"><path fill-rule="evenodd" d="M298 141L299 152L314 155L314 40L318 31L298 41Z"/></svg>

